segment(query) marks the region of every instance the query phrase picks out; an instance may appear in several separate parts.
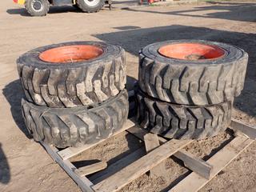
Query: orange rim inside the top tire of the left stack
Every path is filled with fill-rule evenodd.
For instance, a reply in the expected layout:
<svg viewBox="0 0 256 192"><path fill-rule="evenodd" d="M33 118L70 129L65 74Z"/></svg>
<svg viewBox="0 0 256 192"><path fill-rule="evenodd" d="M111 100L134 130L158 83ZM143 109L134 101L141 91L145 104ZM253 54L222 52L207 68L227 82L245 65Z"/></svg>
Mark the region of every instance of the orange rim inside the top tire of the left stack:
<svg viewBox="0 0 256 192"><path fill-rule="evenodd" d="M90 45L60 46L45 50L39 54L39 58L44 62L82 62L97 58L103 54L102 48Z"/></svg>

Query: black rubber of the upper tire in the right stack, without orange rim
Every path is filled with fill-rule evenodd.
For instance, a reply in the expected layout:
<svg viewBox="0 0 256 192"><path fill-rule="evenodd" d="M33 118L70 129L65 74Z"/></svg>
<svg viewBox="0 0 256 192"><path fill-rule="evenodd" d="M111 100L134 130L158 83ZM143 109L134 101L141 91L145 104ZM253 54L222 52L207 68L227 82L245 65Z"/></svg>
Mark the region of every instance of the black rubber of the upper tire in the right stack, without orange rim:
<svg viewBox="0 0 256 192"><path fill-rule="evenodd" d="M219 46L226 55L198 61L166 58L159 47L196 42ZM220 42L178 40L157 42L139 52L138 82L151 97L183 105L208 105L231 101L244 86L248 54Z"/></svg>

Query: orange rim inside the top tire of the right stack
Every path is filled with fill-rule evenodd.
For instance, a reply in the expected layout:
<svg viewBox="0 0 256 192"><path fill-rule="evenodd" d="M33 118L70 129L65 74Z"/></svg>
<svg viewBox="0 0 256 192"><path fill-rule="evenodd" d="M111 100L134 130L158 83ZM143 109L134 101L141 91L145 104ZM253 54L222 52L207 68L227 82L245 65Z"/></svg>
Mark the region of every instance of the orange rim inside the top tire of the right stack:
<svg viewBox="0 0 256 192"><path fill-rule="evenodd" d="M159 54L166 58L182 60L208 60L218 59L225 55L225 50L219 46L202 43L175 43L162 46L158 49Z"/></svg>

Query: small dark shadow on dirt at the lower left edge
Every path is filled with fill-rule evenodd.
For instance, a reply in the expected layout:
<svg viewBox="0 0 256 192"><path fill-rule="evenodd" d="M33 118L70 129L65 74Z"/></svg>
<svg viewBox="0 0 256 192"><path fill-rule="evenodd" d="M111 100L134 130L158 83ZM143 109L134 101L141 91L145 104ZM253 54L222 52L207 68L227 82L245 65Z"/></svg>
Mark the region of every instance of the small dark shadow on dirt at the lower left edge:
<svg viewBox="0 0 256 192"><path fill-rule="evenodd" d="M0 183L7 184L8 182L10 182L10 166L0 142Z"/></svg>

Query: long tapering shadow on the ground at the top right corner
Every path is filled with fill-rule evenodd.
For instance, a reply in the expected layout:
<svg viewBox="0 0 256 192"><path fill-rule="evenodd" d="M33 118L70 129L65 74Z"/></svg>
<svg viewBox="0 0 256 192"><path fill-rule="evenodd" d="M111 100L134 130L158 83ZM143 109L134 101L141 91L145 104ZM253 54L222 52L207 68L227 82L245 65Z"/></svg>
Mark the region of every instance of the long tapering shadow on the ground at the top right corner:
<svg viewBox="0 0 256 192"><path fill-rule="evenodd" d="M220 18L228 19L233 21L243 22L256 22L256 3L246 2L208 2L211 6L198 6L189 10L177 10L177 11L155 11L155 10L137 10L137 9L126 9L134 12L145 12L152 14L170 14L184 17L193 18ZM242 10L242 12L241 12ZM210 13L204 14L203 12L208 11ZM241 13L243 15L241 16Z"/></svg>

